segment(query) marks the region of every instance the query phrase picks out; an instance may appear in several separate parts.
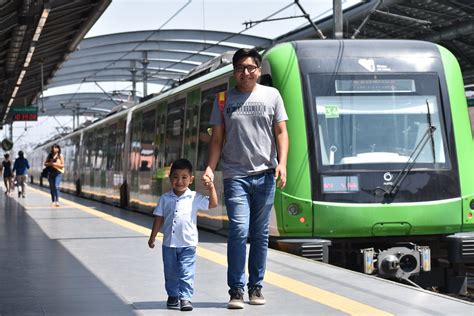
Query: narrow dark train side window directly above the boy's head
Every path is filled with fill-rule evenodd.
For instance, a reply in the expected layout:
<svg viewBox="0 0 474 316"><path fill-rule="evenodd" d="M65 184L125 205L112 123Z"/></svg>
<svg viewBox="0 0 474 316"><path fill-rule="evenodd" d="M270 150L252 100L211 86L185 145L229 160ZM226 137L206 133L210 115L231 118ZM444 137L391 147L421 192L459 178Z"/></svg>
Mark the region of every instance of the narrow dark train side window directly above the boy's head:
<svg viewBox="0 0 474 316"><path fill-rule="evenodd" d="M181 99L168 105L165 140L165 166L181 156L183 144L184 106L186 99Z"/></svg>

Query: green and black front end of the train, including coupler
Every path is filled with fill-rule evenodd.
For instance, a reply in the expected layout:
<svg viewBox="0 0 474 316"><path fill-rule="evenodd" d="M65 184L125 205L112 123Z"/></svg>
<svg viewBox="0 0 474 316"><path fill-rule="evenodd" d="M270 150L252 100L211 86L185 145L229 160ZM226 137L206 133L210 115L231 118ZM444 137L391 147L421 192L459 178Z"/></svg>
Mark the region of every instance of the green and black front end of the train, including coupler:
<svg viewBox="0 0 474 316"><path fill-rule="evenodd" d="M280 236L312 238L302 253L319 244L330 263L465 291L474 146L452 54L419 41L301 41L271 49L263 73L289 115Z"/></svg>

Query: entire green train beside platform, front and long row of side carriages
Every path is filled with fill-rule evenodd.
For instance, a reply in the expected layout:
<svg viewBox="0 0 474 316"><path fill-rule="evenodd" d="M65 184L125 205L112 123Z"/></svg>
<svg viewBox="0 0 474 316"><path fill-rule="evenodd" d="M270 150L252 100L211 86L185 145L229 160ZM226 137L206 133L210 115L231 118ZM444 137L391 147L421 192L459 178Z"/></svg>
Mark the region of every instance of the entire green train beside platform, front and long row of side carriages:
<svg viewBox="0 0 474 316"><path fill-rule="evenodd" d="M474 140L456 58L421 41L296 41L265 52L261 84L281 92L289 116L288 178L275 197L272 241L315 260L465 292L474 265ZM200 179L214 97L233 85L232 65L219 65L55 140L66 160L63 189L151 212L170 189L175 159L190 159ZM30 155L35 182L52 143ZM223 203L219 172L216 186ZM225 233L225 206L200 212L199 225Z"/></svg>

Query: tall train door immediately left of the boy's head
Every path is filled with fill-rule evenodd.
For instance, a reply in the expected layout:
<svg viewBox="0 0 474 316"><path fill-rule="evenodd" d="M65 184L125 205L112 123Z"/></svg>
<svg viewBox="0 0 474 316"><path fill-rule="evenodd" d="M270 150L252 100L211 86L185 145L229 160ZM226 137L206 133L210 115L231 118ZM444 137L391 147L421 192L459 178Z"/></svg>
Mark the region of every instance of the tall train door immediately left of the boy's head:
<svg viewBox="0 0 474 316"><path fill-rule="evenodd" d="M139 208L151 212L156 204L152 187L152 168L155 165L154 139L156 110L153 108L143 113L140 142L140 164L138 168Z"/></svg>

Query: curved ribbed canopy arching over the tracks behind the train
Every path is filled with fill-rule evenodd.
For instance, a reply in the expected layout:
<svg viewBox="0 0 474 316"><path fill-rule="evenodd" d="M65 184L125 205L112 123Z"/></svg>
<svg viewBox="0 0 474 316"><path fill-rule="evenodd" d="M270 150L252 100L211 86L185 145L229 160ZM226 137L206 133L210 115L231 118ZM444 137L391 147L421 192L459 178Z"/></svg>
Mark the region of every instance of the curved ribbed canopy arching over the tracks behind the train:
<svg viewBox="0 0 474 316"><path fill-rule="evenodd" d="M202 30L160 30L86 38L48 88L99 81L170 85L196 66L241 47L265 47L263 37Z"/></svg>

